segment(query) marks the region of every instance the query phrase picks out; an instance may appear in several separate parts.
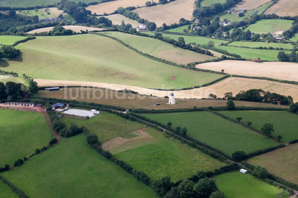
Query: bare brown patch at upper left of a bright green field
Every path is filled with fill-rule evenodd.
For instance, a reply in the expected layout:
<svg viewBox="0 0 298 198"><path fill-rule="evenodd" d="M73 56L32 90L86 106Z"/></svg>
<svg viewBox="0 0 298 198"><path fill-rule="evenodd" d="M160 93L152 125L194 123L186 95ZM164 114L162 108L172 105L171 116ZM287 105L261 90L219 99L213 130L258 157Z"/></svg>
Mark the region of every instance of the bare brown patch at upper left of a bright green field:
<svg viewBox="0 0 298 198"><path fill-rule="evenodd" d="M104 142L102 144L102 148L104 150L108 150L111 153L118 153L122 152L124 150L128 150L131 148L139 147L144 144L148 144L150 142L153 142L156 138L153 136L150 136L149 133L144 132L143 129L140 129L135 132L137 137L133 138L121 138L121 137L115 137L111 140L108 140L107 142Z"/></svg>

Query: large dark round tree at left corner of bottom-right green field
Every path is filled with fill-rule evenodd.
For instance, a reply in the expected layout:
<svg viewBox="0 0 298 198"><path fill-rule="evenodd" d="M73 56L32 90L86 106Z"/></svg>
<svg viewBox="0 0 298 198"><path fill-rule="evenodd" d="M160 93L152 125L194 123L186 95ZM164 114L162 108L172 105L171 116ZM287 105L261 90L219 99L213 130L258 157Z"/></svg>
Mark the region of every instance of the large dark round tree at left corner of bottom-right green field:
<svg viewBox="0 0 298 198"><path fill-rule="evenodd" d="M205 177L198 181L198 185L195 187L199 197L208 198L212 192L218 191L215 181Z"/></svg>

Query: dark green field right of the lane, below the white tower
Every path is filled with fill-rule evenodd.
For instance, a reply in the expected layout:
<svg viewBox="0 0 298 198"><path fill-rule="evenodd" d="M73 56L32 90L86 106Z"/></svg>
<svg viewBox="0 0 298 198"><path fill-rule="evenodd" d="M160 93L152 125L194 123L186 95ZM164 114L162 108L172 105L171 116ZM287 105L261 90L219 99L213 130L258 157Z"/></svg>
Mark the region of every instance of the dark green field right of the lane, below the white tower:
<svg viewBox="0 0 298 198"><path fill-rule="evenodd" d="M172 122L173 129L176 126L186 127L188 136L228 155L237 150L250 153L277 144L265 136L206 111L141 115L164 124Z"/></svg>

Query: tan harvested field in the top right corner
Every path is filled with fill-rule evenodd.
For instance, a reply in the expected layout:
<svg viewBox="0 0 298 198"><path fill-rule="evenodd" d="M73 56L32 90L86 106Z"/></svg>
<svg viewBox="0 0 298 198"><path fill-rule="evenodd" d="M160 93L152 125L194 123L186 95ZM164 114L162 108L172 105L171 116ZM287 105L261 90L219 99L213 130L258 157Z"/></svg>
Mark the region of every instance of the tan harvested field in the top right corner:
<svg viewBox="0 0 298 198"><path fill-rule="evenodd" d="M264 14L276 14L278 16L296 16L298 10L297 0L279 0L271 6Z"/></svg>

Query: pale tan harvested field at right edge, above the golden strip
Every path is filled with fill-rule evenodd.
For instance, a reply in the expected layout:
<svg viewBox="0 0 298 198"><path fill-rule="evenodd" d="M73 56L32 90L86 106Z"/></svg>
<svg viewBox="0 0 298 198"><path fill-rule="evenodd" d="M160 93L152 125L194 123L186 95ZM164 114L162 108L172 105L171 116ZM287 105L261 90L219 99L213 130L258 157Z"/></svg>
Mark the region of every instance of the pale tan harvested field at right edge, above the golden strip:
<svg viewBox="0 0 298 198"><path fill-rule="evenodd" d="M200 69L221 71L242 76L268 77L280 80L298 81L298 64L288 62L263 62L224 60L195 66Z"/></svg>

